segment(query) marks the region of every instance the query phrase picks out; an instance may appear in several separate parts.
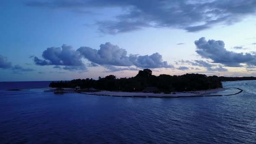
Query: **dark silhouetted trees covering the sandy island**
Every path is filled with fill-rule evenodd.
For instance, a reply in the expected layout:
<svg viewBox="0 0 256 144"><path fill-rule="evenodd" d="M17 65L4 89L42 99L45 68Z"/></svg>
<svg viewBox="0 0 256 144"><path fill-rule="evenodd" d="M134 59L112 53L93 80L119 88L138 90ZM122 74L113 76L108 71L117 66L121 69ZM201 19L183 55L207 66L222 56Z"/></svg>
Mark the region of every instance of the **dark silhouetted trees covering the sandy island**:
<svg viewBox="0 0 256 144"><path fill-rule="evenodd" d="M72 81L51 82L49 87L55 88L96 88L107 91L140 92L146 87L157 87L160 92L197 91L210 88L221 88L220 79L202 74L185 75L152 75L150 69L140 70L135 77L117 79L115 75L104 78L74 79Z"/></svg>

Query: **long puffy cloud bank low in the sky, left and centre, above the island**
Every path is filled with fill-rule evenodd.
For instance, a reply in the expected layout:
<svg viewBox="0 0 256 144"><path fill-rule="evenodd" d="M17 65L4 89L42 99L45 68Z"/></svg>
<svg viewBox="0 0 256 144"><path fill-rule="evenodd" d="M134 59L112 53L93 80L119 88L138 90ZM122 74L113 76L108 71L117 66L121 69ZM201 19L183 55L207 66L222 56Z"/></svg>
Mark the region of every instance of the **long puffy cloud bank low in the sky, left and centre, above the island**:
<svg viewBox="0 0 256 144"><path fill-rule="evenodd" d="M111 43L101 44L98 50L86 46L82 46L77 50L67 45L57 48L50 47L43 51L42 57L43 59L39 59L37 56L34 57L36 65L55 65L54 68L57 69L61 69L60 66L65 66L63 69L86 70L87 67L82 61L83 58L91 62L89 66L102 65L111 71L120 69L114 66L129 67L121 70L135 70L131 66L142 69L174 68L167 61L163 61L162 56L158 52L145 56L128 55L125 49L121 49L119 46L112 45Z"/></svg>

